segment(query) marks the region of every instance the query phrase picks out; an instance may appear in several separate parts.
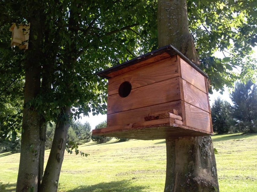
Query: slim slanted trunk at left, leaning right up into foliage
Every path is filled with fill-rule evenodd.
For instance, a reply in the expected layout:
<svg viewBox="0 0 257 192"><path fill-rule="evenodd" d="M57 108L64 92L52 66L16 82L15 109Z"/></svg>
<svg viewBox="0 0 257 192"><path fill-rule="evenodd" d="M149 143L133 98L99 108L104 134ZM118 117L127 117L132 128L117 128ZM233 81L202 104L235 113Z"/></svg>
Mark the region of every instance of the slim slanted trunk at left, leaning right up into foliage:
<svg viewBox="0 0 257 192"><path fill-rule="evenodd" d="M51 151L46 164L43 180L40 189L38 190L40 192L57 191L64 152L66 149L70 111L71 107L65 107L58 116Z"/></svg>

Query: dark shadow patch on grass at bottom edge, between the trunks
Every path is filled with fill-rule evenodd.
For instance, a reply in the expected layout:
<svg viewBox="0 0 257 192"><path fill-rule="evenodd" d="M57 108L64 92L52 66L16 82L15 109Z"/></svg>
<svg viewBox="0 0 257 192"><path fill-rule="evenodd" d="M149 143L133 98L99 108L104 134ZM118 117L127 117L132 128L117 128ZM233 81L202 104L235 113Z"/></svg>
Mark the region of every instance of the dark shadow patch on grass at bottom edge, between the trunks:
<svg viewBox="0 0 257 192"><path fill-rule="evenodd" d="M108 183L99 183L95 185L81 185L75 189L66 192L140 192L144 191L146 187L132 186L130 181L112 181Z"/></svg>

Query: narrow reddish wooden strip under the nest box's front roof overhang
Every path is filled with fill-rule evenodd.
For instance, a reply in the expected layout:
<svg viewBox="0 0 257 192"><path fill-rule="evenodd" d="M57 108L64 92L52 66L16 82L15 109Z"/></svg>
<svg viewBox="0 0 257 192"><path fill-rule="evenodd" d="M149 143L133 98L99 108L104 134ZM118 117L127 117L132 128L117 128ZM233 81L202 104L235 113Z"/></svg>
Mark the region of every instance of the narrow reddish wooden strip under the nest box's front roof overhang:
<svg viewBox="0 0 257 192"><path fill-rule="evenodd" d="M113 77L116 77L116 76L118 76L118 75L122 75L122 74L124 74L124 73L127 73L127 72L133 71L133 70L135 70L135 69L138 69L138 68L140 68L140 67L150 65L150 64L152 64L152 63L161 61L161 60L163 60L163 59L167 59L167 58L169 58L169 57L170 57L170 55L169 55L168 53L162 53L162 54L160 54L160 55L151 57L150 59L147 59L147 60L138 62L138 63L136 63L136 64L134 64L134 65L125 67L125 68L120 69L120 70L118 70L118 71L111 72L111 73L108 74L108 77L113 78Z"/></svg>

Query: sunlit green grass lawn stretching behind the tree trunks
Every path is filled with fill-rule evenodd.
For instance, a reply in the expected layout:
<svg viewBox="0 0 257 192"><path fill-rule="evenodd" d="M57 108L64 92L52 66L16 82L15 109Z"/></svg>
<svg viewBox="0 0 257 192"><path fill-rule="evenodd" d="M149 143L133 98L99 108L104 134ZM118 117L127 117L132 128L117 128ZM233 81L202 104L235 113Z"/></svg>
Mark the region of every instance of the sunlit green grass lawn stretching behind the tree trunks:
<svg viewBox="0 0 257 192"><path fill-rule="evenodd" d="M212 136L221 192L257 192L257 134ZM159 192L166 170L164 140L94 142L88 157L65 153L59 192ZM49 150L46 151L46 160ZM15 190L20 154L0 154L0 182Z"/></svg>

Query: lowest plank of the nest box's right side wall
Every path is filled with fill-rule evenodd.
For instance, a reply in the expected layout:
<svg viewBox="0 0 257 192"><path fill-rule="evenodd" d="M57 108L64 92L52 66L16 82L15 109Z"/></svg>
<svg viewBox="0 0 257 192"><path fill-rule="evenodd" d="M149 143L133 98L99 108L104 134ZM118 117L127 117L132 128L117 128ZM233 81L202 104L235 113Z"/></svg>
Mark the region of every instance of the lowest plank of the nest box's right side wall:
<svg viewBox="0 0 257 192"><path fill-rule="evenodd" d="M185 102L186 126L211 132L209 113Z"/></svg>

